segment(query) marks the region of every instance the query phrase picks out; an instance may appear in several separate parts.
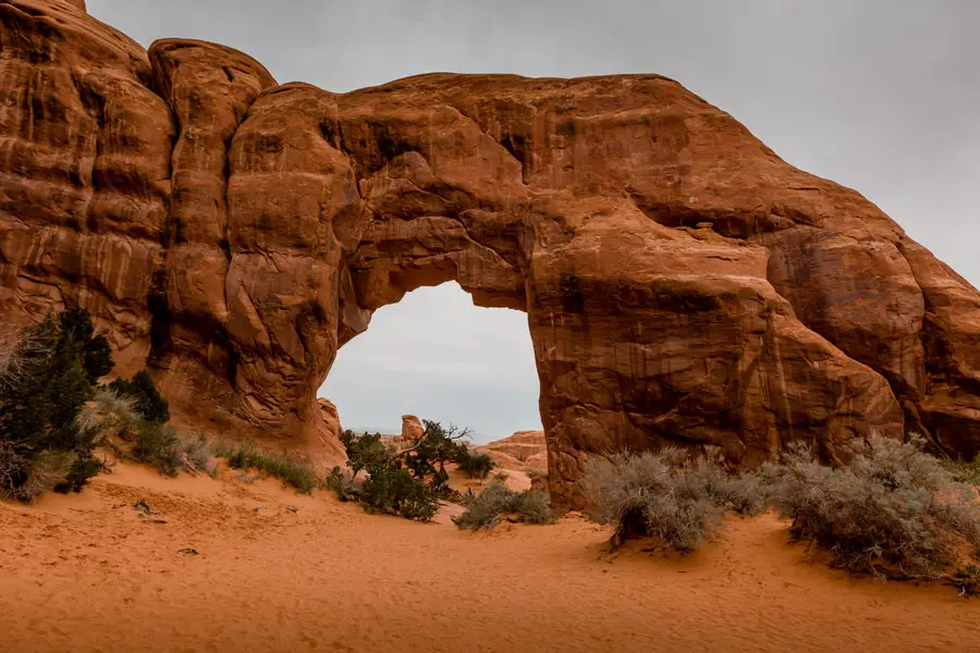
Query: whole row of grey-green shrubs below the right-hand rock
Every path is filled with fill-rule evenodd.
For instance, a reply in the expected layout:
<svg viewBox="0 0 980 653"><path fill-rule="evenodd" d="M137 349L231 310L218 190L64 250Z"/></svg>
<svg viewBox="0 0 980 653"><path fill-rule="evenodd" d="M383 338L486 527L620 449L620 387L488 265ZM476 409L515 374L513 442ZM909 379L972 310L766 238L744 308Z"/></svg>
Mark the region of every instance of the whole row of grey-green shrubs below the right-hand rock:
<svg viewBox="0 0 980 653"><path fill-rule="evenodd" d="M825 551L834 567L879 578L980 586L976 489L923 451L923 442L870 438L847 465L821 463L800 444L757 472L727 472L708 457L664 448L589 463L583 489L615 547L653 538L690 552L718 533L726 512L775 509L791 537ZM961 467L956 467L961 471ZM969 476L969 475L966 475Z"/></svg>

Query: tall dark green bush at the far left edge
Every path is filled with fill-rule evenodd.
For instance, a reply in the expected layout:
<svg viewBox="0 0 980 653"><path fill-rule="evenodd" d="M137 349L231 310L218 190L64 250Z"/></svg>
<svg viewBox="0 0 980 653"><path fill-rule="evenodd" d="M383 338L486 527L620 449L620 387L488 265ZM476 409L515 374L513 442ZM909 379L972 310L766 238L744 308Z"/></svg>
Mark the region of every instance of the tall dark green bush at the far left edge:
<svg viewBox="0 0 980 653"><path fill-rule="evenodd" d="M96 381L112 369L108 341L94 334L81 309L48 316L0 340L5 347L0 352L0 493L34 495L21 489L51 485L52 470L69 458L52 489L79 491L101 469L91 454L95 434L77 418Z"/></svg>

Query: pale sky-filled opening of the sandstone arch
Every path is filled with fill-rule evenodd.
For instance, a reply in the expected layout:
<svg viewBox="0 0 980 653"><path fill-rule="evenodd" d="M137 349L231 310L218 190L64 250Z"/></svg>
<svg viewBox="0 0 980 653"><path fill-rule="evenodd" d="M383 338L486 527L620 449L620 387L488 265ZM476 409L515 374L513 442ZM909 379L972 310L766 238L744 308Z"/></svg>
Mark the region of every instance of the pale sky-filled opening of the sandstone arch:
<svg viewBox="0 0 980 653"><path fill-rule="evenodd" d="M477 444L541 430L539 394L527 316L476 306L454 281L378 309L318 392L344 429L397 433L416 415L468 427Z"/></svg>

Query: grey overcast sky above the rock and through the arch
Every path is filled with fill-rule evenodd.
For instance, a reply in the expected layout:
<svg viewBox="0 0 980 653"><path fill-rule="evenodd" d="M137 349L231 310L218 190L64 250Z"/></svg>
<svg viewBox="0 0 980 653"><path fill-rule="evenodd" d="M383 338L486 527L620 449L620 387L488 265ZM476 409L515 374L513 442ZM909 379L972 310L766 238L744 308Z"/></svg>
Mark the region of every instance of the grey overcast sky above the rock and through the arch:
<svg viewBox="0 0 980 653"><path fill-rule="evenodd" d="M661 73L784 159L861 192L980 285L980 0L88 0L148 46L238 48L334 91L433 71ZM345 427L403 412L487 438L539 427L522 313L454 284L375 316L323 394Z"/></svg>

